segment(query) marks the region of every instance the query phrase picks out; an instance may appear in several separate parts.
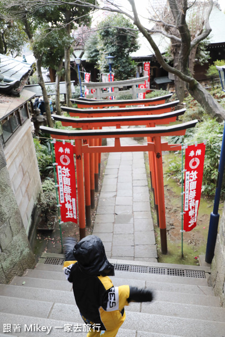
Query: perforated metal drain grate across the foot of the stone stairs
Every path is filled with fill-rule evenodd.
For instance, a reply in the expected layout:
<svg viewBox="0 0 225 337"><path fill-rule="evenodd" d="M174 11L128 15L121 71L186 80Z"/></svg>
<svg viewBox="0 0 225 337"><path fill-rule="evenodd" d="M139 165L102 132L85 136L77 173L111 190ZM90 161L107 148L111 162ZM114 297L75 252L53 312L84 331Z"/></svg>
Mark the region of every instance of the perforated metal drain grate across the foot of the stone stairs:
<svg viewBox="0 0 225 337"><path fill-rule="evenodd" d="M64 261L65 259L46 258L45 264L63 265ZM204 270L189 270L189 269L165 268L165 267L148 267L148 266L143 266L143 265L120 264L120 263L112 263L112 264L114 265L115 270L120 270L120 271L133 271L136 273L206 278Z"/></svg>

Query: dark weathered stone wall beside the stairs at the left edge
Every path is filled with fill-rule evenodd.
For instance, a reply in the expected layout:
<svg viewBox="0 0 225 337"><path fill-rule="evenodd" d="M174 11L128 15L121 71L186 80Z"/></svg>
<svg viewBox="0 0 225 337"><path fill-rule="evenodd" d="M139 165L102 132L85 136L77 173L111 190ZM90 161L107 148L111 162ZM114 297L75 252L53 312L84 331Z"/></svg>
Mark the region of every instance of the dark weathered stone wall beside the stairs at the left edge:
<svg viewBox="0 0 225 337"><path fill-rule="evenodd" d="M17 143L18 145L18 143ZM0 141L0 283L35 264Z"/></svg>

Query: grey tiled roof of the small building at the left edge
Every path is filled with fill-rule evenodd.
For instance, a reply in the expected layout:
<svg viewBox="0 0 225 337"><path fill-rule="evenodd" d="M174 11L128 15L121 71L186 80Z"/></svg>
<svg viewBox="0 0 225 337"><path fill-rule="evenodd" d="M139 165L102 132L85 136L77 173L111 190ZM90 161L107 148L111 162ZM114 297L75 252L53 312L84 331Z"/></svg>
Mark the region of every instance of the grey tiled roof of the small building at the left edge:
<svg viewBox="0 0 225 337"><path fill-rule="evenodd" d="M0 54L0 74L12 80L21 80L30 70L31 64Z"/></svg>

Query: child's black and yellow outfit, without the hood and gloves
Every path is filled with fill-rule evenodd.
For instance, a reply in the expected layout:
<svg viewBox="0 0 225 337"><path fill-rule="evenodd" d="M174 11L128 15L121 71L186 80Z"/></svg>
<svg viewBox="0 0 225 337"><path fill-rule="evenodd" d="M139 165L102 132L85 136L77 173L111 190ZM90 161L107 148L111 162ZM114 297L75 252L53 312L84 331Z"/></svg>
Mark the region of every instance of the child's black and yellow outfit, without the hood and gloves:
<svg viewBox="0 0 225 337"><path fill-rule="evenodd" d="M100 330L119 328L126 318L124 306L129 304L130 287L114 287L108 276L89 276L77 262L69 263L65 262L63 269L73 283L74 297L85 323L98 324Z"/></svg>

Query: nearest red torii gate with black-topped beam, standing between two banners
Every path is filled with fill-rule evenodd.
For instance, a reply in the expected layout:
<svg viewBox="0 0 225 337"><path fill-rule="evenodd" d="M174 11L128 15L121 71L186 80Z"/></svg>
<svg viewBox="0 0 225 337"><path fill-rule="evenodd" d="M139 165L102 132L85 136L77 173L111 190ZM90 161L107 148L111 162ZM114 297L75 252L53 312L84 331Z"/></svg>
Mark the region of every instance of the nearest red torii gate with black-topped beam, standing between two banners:
<svg viewBox="0 0 225 337"><path fill-rule="evenodd" d="M156 162L157 190L160 193L159 224L160 224L161 251L163 254L167 254L162 151L180 150L181 145L175 146L174 144L170 145L168 143L161 143L161 137L185 135L186 129L194 127L197 122L198 121L195 119L193 121L182 123L176 126L155 127L155 128L150 127L139 129L86 130L86 131L60 130L49 128L46 126L41 126L40 129L44 133L50 134L52 138L61 140L75 140L74 153L76 154L80 239L84 238L86 235L83 153L153 151ZM124 137L150 137L152 139L152 143L147 143L147 145L121 146L120 138ZM90 147L89 144L86 145L82 144L83 139L99 139L99 138L115 138L115 145L113 147L108 146Z"/></svg>

